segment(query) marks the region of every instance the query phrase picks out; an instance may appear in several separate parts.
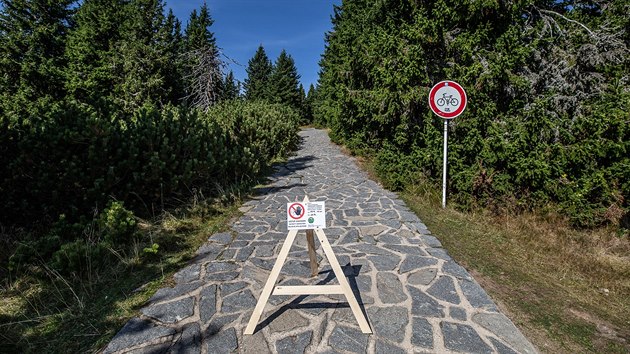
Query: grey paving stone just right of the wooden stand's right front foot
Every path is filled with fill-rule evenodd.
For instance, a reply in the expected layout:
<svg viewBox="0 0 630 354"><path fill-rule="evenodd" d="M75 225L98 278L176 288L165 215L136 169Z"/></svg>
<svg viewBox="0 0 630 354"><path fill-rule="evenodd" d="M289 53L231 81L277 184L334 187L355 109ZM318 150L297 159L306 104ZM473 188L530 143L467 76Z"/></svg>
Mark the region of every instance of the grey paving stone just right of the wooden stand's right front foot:
<svg viewBox="0 0 630 354"><path fill-rule="evenodd" d="M402 343L409 323L407 313L404 307L371 307L368 309L368 318L376 335Z"/></svg>

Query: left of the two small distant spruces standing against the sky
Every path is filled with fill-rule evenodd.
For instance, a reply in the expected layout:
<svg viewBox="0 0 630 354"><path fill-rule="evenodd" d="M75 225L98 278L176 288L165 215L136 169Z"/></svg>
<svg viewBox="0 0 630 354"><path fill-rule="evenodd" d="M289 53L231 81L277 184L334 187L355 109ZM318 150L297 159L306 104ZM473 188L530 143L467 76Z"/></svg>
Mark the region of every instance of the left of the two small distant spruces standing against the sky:
<svg viewBox="0 0 630 354"><path fill-rule="evenodd" d="M262 45L247 63L247 78L245 79L245 98L248 100L269 100L270 79L273 71L271 61Z"/></svg>

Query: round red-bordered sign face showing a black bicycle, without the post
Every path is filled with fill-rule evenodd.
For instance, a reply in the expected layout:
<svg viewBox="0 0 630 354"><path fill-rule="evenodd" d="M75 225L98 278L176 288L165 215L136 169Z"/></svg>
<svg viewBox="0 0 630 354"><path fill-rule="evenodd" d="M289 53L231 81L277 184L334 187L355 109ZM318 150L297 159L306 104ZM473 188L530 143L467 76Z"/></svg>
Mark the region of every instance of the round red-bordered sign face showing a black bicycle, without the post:
<svg viewBox="0 0 630 354"><path fill-rule="evenodd" d="M466 103L466 91L455 81L440 81L429 92L429 107L444 119L453 119L462 114Z"/></svg>

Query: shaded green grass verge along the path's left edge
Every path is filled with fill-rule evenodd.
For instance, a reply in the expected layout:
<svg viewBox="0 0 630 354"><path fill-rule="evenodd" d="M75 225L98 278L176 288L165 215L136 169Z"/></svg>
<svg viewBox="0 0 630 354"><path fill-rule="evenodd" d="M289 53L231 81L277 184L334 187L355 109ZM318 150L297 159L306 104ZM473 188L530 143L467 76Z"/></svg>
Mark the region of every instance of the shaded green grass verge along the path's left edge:
<svg viewBox="0 0 630 354"><path fill-rule="evenodd" d="M195 251L239 215L237 202L165 213L142 224L160 240L156 254L141 251L109 269L62 276L43 262L0 288L0 353L97 352L146 303L172 281ZM87 273L87 276L85 275Z"/></svg>

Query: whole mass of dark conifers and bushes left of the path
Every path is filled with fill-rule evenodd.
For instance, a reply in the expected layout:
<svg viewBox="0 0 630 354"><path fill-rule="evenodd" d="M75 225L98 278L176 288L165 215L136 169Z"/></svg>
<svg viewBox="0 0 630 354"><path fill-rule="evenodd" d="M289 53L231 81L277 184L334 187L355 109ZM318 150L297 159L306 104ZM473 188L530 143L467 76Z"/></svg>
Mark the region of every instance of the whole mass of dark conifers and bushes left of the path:
<svg viewBox="0 0 630 354"><path fill-rule="evenodd" d="M1 3L0 261L73 271L149 242L136 216L253 181L297 144L293 59L243 96L205 4L182 26L163 0Z"/></svg>

